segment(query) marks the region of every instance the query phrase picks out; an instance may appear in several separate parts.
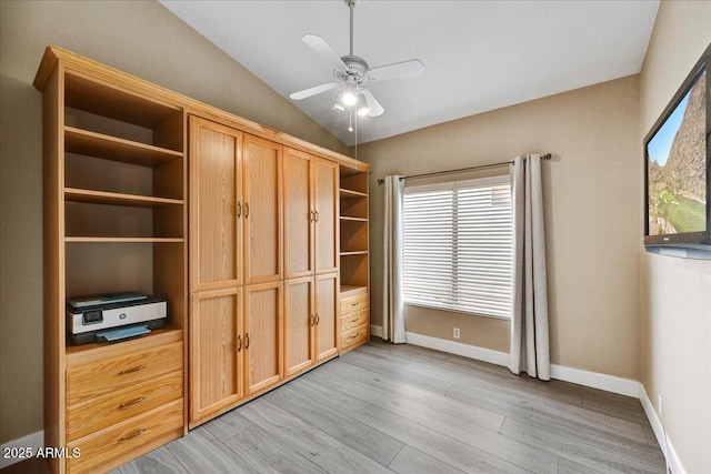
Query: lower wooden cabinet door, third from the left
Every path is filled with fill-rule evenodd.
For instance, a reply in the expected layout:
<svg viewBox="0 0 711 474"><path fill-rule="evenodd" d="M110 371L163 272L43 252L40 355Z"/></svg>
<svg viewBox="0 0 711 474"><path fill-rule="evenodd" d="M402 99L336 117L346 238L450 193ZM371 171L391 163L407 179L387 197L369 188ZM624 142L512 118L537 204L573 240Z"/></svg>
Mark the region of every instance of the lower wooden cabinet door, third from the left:
<svg viewBox="0 0 711 474"><path fill-rule="evenodd" d="M284 281L284 374L313 365L316 307L313 276Z"/></svg>

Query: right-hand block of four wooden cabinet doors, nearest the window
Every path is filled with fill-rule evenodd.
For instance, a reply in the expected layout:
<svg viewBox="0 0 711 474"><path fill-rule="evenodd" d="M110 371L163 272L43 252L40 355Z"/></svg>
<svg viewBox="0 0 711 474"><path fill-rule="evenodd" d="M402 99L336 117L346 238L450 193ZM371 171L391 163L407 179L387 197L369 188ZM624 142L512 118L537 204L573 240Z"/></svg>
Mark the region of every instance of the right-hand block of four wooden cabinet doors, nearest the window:
<svg viewBox="0 0 711 474"><path fill-rule="evenodd" d="M284 371L338 353L338 164L284 151Z"/></svg>

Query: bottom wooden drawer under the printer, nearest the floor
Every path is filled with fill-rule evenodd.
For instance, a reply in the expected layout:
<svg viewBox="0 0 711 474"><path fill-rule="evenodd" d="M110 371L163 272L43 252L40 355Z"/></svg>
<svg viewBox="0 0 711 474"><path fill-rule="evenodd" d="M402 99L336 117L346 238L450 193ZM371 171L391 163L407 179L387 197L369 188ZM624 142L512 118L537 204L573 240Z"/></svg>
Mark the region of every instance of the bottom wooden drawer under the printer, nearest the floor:
<svg viewBox="0 0 711 474"><path fill-rule="evenodd" d="M152 410L94 435L68 444L69 453L80 455L68 460L68 471L76 473L107 472L183 434L183 400Z"/></svg>

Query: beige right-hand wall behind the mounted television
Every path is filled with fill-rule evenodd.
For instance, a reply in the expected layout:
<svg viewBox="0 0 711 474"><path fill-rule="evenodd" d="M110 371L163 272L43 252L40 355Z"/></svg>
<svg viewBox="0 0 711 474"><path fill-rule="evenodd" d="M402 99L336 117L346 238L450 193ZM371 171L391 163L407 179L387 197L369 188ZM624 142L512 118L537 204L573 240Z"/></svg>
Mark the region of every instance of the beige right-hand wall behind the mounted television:
<svg viewBox="0 0 711 474"><path fill-rule="evenodd" d="M640 142L709 42L711 2L662 2L640 80ZM708 472L711 262L643 251L640 260L640 380L687 472ZM659 407L660 395L663 412Z"/></svg>

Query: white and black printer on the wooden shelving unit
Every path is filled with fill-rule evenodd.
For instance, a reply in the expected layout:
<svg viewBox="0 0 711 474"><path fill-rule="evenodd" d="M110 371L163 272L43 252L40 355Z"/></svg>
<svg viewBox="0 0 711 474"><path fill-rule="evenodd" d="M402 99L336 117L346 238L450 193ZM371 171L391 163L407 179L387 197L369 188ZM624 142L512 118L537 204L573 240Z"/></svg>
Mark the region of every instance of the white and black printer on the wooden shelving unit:
<svg viewBox="0 0 711 474"><path fill-rule="evenodd" d="M141 293L67 299L67 335L72 344L113 342L166 325L168 303Z"/></svg>

